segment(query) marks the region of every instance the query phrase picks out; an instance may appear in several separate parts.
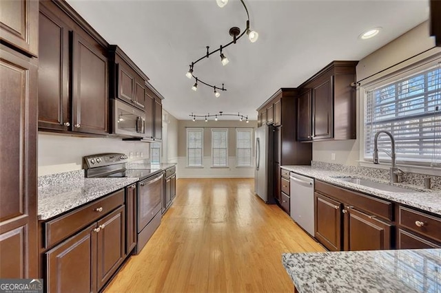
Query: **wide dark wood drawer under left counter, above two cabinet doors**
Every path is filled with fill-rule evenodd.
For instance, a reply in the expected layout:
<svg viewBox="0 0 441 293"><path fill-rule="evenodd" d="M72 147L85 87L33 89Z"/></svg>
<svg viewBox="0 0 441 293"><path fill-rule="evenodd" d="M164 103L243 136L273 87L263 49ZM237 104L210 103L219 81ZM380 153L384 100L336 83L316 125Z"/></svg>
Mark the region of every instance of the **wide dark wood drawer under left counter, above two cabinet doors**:
<svg viewBox="0 0 441 293"><path fill-rule="evenodd" d="M124 204L124 190L116 191L111 195L99 199L87 206L77 208L72 212L53 219L44 224L45 248L50 248L57 242L74 234L96 219Z"/></svg>

